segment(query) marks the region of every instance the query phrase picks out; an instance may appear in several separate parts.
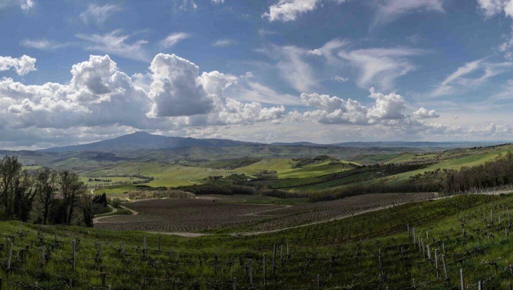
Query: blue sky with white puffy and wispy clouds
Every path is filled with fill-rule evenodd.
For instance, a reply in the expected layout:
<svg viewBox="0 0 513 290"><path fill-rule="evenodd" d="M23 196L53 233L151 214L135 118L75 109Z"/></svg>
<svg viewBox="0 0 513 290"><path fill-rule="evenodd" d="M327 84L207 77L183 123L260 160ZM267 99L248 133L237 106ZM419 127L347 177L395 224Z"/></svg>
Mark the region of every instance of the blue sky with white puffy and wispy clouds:
<svg viewBox="0 0 513 290"><path fill-rule="evenodd" d="M513 140L513 0L0 0L0 149Z"/></svg>

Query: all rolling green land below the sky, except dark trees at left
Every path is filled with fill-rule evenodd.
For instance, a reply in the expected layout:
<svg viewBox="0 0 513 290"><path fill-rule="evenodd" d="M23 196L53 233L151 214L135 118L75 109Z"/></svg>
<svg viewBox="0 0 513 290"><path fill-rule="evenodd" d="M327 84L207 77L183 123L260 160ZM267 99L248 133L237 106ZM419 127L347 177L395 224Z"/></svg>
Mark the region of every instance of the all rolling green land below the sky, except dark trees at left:
<svg viewBox="0 0 513 290"><path fill-rule="evenodd" d="M513 245L510 143L347 148L206 140L158 148L169 139L157 137L155 148L138 149L145 146L138 136L153 138L122 138L136 144L125 148L102 141L96 152L84 151L87 144L2 151L18 156L20 180L56 178L46 224L39 198L24 222L0 221L3 288L510 283L500 270L511 259L503 247ZM76 210L62 222L52 211L67 200L65 178L78 191Z"/></svg>

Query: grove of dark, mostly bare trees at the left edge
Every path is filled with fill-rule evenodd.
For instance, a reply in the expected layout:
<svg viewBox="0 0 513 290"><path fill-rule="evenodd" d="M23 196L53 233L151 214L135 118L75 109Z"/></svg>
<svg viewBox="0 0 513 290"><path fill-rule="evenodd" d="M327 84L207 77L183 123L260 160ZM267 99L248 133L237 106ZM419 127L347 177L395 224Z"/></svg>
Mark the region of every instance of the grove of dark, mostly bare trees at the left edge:
<svg viewBox="0 0 513 290"><path fill-rule="evenodd" d="M94 203L71 171L23 170L16 156L0 159L0 219L92 225Z"/></svg>

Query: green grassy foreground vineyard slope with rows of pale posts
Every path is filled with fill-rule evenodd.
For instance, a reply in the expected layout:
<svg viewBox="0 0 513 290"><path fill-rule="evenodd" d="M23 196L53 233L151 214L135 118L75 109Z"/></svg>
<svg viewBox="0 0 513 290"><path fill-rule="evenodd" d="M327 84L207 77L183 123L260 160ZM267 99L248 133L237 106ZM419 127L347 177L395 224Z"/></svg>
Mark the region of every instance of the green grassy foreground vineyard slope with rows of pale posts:
<svg viewBox="0 0 513 290"><path fill-rule="evenodd" d="M255 236L2 222L2 289L450 289L513 282L513 196L460 195Z"/></svg>

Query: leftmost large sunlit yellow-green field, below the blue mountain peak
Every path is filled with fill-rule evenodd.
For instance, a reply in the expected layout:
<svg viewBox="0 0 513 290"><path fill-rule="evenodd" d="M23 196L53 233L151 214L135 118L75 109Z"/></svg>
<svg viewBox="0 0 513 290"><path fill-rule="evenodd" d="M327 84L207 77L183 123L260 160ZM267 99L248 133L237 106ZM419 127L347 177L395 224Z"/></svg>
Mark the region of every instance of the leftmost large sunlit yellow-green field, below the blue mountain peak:
<svg viewBox="0 0 513 290"><path fill-rule="evenodd" d="M210 175L224 175L225 170L191 167L179 164L163 164L156 162L123 162L100 170L84 174L85 176L106 176L122 174L139 174L155 179L147 185L151 187L178 187L191 185Z"/></svg>

